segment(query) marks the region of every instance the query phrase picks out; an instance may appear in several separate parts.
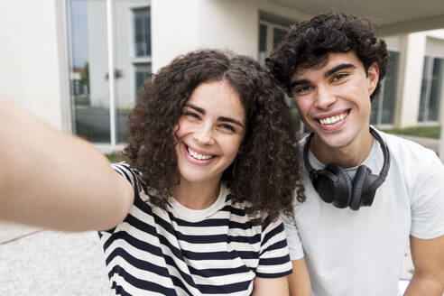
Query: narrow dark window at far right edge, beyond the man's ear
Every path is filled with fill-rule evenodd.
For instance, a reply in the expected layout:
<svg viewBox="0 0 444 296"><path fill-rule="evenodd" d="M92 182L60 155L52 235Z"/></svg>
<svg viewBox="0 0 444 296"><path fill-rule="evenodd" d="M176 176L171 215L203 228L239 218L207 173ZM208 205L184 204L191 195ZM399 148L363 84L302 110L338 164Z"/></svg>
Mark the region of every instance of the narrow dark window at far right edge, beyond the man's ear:
<svg viewBox="0 0 444 296"><path fill-rule="evenodd" d="M441 97L444 59L426 56L422 69L419 122L439 121L439 102Z"/></svg>

